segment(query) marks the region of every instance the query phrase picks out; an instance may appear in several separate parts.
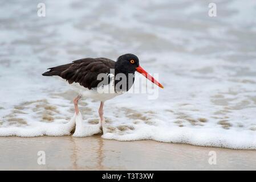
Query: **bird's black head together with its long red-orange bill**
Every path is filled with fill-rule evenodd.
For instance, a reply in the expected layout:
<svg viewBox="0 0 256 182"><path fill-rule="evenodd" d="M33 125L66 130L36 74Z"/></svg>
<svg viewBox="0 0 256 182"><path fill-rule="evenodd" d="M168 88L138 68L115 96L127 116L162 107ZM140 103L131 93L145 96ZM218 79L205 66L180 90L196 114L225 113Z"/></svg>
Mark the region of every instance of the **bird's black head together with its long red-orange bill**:
<svg viewBox="0 0 256 182"><path fill-rule="evenodd" d="M125 55L121 55L118 57L115 68L122 73L135 73L139 72L148 80L152 81L154 84L160 86L160 88L164 88L155 78L149 75L141 66L139 62L139 58L132 53L127 53Z"/></svg>

